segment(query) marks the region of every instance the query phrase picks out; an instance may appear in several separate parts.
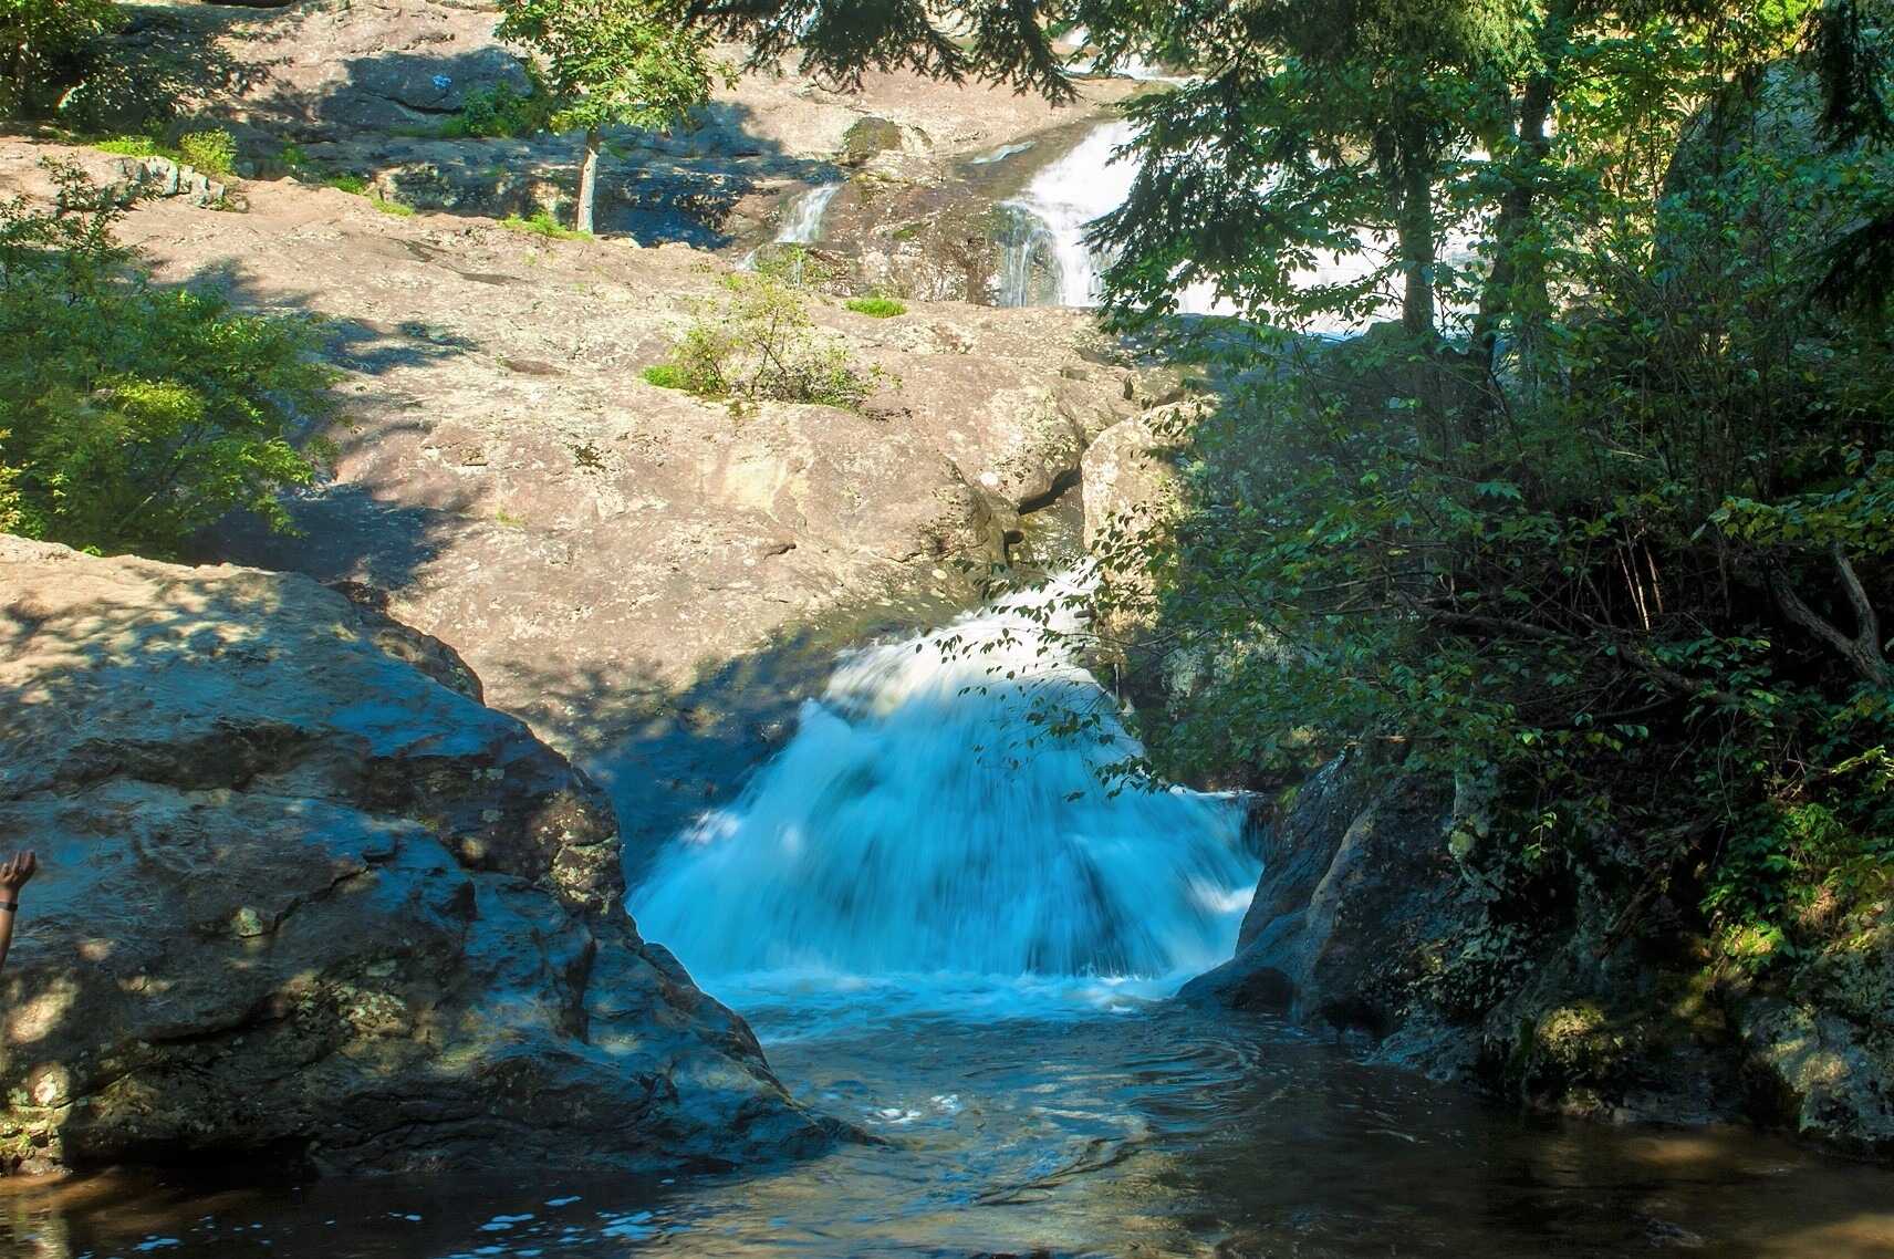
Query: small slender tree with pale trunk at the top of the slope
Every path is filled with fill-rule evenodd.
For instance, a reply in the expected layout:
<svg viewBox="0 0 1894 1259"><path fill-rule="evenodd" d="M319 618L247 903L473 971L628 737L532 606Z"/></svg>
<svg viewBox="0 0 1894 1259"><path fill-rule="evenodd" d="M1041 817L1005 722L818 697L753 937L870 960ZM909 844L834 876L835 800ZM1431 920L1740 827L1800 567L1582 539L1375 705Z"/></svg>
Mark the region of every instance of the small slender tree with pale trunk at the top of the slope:
<svg viewBox="0 0 1894 1259"><path fill-rule="evenodd" d="M708 34L678 21L665 0L502 0L496 34L532 53L545 125L585 133L580 231L593 231L600 131L669 131L727 80ZM509 121L536 117L515 110Z"/></svg>

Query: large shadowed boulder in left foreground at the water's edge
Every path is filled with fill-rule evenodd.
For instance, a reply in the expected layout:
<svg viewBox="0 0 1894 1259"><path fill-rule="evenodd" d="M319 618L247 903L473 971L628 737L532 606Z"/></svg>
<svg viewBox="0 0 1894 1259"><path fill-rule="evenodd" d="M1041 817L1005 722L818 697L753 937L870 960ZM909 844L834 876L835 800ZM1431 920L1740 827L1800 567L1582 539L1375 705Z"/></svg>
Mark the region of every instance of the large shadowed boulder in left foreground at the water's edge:
<svg viewBox="0 0 1894 1259"><path fill-rule="evenodd" d="M307 577L6 536L0 600L0 835L44 865L0 975L15 1166L826 1140L638 937L604 795L441 644Z"/></svg>

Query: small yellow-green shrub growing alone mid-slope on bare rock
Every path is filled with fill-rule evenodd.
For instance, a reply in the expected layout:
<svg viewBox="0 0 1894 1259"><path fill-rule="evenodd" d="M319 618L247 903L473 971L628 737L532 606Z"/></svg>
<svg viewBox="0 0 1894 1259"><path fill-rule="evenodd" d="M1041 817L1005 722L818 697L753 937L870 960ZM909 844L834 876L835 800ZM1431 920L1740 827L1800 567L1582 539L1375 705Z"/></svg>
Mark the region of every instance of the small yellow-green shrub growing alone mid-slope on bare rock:
<svg viewBox="0 0 1894 1259"><path fill-rule="evenodd" d="M883 379L879 367L858 367L843 343L816 337L807 299L780 280L735 273L722 288L670 350L665 379L674 388L854 411Z"/></svg>

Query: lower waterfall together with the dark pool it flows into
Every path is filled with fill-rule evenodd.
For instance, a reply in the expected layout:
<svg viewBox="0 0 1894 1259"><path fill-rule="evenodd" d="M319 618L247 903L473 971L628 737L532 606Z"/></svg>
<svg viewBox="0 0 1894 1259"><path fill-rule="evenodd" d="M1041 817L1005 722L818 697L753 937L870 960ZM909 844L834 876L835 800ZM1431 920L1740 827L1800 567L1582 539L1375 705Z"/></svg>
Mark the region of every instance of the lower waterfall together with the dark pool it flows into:
<svg viewBox="0 0 1894 1259"><path fill-rule="evenodd" d="M1167 1002L1229 954L1258 865L1233 801L1100 782L1135 744L1038 598L845 653L631 897L867 1140L697 1179L0 1181L0 1253L1894 1255L1885 1168L1528 1117Z"/></svg>

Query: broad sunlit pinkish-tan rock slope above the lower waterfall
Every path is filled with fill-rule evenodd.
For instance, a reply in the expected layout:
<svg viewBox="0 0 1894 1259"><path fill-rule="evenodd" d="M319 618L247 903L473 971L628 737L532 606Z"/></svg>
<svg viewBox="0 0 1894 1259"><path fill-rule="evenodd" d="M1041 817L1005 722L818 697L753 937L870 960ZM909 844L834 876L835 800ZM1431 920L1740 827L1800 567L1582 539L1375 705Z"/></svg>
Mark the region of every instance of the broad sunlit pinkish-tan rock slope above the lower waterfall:
<svg viewBox="0 0 1894 1259"><path fill-rule="evenodd" d="M0 142L0 195L45 195L42 155L112 176ZM388 591L614 793L634 846L765 755L835 647L977 598L960 564L1004 559L1021 511L1148 401L1081 312L875 320L816 293L818 335L888 373L860 413L705 401L640 369L716 318L706 254L242 191L248 214L140 203L123 235L165 282L330 320L335 477L292 504L303 536L233 530L199 557Z"/></svg>

